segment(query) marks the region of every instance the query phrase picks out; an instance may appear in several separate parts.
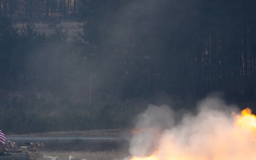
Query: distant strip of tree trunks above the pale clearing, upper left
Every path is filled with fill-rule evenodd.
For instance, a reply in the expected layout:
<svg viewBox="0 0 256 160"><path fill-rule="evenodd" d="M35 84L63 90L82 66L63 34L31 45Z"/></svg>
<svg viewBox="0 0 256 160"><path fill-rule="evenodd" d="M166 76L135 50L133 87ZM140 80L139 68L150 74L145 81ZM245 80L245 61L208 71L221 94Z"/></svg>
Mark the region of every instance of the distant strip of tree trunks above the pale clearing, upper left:
<svg viewBox="0 0 256 160"><path fill-rule="evenodd" d="M67 14L76 14L79 4L79 0L1 0L0 14L30 21L65 18Z"/></svg>

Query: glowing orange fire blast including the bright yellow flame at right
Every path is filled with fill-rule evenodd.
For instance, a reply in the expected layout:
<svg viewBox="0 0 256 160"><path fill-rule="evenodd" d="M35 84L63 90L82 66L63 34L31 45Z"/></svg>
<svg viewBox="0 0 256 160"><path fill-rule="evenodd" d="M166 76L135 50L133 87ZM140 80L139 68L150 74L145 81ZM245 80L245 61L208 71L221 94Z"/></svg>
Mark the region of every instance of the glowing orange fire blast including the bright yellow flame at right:
<svg viewBox="0 0 256 160"><path fill-rule="evenodd" d="M230 115L203 109L183 118L181 124L159 129L161 136L154 137L150 130L134 132L129 160L256 159L256 117L249 108ZM147 140L150 145L145 145Z"/></svg>

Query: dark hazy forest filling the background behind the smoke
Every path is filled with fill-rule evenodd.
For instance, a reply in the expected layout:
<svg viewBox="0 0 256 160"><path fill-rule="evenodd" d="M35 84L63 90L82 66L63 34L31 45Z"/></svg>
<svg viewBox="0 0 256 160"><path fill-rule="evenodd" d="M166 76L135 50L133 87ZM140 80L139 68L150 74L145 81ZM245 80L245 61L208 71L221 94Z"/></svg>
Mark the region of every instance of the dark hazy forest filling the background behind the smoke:
<svg viewBox="0 0 256 160"><path fill-rule="evenodd" d="M61 5L77 13L82 32L72 41L61 26L48 35L31 21L16 28L20 8L0 3L8 132L127 127L147 104L168 104L163 95L176 110L216 91L241 105L255 100L255 1L22 1L28 17Z"/></svg>

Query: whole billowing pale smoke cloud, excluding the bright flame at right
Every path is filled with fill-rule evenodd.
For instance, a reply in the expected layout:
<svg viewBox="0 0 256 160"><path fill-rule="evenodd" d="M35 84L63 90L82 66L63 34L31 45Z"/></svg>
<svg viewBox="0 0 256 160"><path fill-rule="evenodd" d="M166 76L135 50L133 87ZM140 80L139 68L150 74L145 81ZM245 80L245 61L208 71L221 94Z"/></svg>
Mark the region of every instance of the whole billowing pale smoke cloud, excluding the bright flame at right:
<svg viewBox="0 0 256 160"><path fill-rule="evenodd" d="M208 97L196 110L174 122L175 114L167 107L149 106L137 117L139 132L132 138L130 154L154 154L159 159L255 159L255 132L234 125L232 112L238 107Z"/></svg>

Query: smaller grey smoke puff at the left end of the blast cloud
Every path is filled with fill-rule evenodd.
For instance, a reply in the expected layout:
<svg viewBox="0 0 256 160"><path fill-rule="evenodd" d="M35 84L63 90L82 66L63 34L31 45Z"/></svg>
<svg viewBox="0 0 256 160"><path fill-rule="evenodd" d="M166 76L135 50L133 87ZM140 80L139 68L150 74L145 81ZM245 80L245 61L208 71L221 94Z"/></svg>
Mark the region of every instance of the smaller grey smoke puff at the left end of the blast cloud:
<svg viewBox="0 0 256 160"><path fill-rule="evenodd" d="M129 151L132 155L144 156L149 154L159 141L159 132L174 125L173 112L169 107L149 105L148 109L137 117L136 129Z"/></svg>

